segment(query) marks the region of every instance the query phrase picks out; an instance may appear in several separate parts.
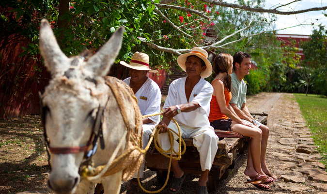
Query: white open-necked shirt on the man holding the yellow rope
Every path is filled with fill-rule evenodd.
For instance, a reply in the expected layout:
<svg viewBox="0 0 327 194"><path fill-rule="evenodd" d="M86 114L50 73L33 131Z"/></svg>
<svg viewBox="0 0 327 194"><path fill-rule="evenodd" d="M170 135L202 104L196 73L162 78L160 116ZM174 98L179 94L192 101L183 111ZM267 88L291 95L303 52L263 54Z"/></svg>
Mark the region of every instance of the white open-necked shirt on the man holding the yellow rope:
<svg viewBox="0 0 327 194"><path fill-rule="evenodd" d="M166 98L164 109L175 106L176 104L186 104L187 97L185 94L185 82L186 78L180 78L171 82L169 86L168 96ZM214 92L213 87L208 81L205 81L203 78L194 86L192 93L188 99L189 102L198 102L200 107L195 111L191 111L189 113L179 113L174 119L183 125L201 128L210 126L210 122L208 119L210 113L210 101L211 96Z"/></svg>

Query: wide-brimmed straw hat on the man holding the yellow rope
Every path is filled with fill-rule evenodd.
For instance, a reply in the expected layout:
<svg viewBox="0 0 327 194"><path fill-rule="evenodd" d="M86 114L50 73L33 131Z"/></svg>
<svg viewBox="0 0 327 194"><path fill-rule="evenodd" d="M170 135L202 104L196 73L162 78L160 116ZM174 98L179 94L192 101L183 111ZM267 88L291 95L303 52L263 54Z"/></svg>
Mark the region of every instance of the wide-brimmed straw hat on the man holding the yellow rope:
<svg viewBox="0 0 327 194"><path fill-rule="evenodd" d="M200 59L202 59L204 61L205 65L207 66L207 68L200 74L200 76L202 78L209 77L212 73L212 65L211 65L210 61L208 60L208 53L204 49L194 47L193 49L191 49L191 52L180 55L177 58L177 64L186 72L185 63L186 63L187 57L191 56L191 55L195 55L195 56L199 57Z"/></svg>

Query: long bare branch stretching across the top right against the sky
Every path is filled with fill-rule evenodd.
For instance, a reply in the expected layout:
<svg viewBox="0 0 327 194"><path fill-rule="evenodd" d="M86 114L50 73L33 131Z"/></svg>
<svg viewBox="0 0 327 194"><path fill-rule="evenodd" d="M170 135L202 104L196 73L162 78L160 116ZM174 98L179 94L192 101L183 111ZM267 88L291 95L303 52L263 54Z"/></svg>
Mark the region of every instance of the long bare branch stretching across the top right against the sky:
<svg viewBox="0 0 327 194"><path fill-rule="evenodd" d="M252 8L247 5L238 5L234 3L225 3L221 1L215 1L215 0L200 0L202 2L206 2L209 4L214 4L214 5L219 5L222 7L231 7L234 9L241 9L245 11L251 11L251 12L259 12L259 13L272 13L272 14L279 14L279 15L292 15L292 14L300 14L300 13L305 13L305 12L311 12L311 11L319 11L319 10L325 10L327 9L327 6L325 7L313 7L310 9L303 9L303 10L298 10L298 11L292 11L292 12L282 12L278 11L276 9L262 9L262 8Z"/></svg>

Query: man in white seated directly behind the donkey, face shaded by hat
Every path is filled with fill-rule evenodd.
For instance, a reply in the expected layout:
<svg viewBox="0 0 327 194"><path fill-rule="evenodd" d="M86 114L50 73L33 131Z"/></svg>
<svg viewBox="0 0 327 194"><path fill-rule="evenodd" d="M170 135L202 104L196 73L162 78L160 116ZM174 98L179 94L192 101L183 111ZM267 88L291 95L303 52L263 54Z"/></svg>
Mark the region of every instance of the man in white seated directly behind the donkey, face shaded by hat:
<svg viewBox="0 0 327 194"><path fill-rule="evenodd" d="M124 82L133 89L135 96L138 98L138 105L142 115L160 113L161 92L155 81L148 78L148 72L156 73L156 70L149 68L149 56L145 53L134 53L131 63L127 64L121 61L120 64L129 68L130 77ZM143 149L147 146L153 129L160 121L160 115L146 117L143 122ZM144 161L141 165L140 178L143 176ZM127 194L137 194L140 190L138 183L138 173L133 175Z"/></svg>

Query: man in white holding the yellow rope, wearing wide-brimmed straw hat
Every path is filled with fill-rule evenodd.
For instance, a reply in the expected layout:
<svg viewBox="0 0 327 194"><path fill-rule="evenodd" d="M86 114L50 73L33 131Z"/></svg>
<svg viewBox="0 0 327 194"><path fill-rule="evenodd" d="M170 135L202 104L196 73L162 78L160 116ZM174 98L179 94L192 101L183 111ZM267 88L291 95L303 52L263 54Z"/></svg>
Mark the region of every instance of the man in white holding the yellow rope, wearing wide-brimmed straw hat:
<svg viewBox="0 0 327 194"><path fill-rule="evenodd" d="M193 145L200 152L202 168L202 175L198 181L199 194L208 194L206 187L208 173L218 149L218 136L208 119L210 100L214 90L211 84L203 79L212 73L212 66L207 58L208 53L197 47L193 48L190 53L177 58L178 65L187 72L187 77L175 80L169 86L158 136L162 148L168 150L170 142L166 133L167 128L178 133L177 126L171 122L174 118L180 126L182 137L193 139ZM174 134L176 152L178 152L177 139L178 136ZM172 160L171 169L174 175L169 192L176 194L181 189L185 174L176 160Z"/></svg>

